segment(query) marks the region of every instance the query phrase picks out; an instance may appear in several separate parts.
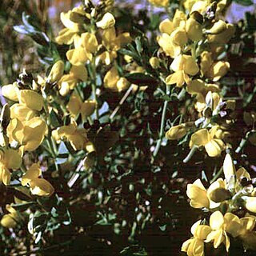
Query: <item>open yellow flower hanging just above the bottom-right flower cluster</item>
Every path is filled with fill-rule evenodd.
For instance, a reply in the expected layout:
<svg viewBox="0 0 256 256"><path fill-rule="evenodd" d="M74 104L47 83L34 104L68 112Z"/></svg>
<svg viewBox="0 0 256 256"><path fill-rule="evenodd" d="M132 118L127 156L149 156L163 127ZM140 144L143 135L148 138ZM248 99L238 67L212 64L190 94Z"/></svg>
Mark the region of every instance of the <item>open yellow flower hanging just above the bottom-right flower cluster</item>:
<svg viewBox="0 0 256 256"><path fill-rule="evenodd" d="M218 126L213 126L210 131L207 129L196 131L190 138L190 147L204 146L210 157L217 157L225 149L224 142L219 138L214 138L218 129Z"/></svg>

